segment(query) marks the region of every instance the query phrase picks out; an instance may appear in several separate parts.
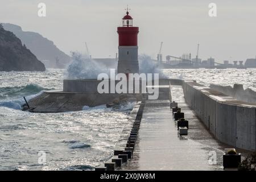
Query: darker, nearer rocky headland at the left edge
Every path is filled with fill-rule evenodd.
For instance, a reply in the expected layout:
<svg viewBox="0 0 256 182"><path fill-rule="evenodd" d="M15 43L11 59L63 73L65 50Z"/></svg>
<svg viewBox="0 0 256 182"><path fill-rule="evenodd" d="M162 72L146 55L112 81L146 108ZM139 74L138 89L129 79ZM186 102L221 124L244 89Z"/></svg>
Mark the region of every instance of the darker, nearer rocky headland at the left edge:
<svg viewBox="0 0 256 182"><path fill-rule="evenodd" d="M0 24L0 71L46 71L44 64Z"/></svg>

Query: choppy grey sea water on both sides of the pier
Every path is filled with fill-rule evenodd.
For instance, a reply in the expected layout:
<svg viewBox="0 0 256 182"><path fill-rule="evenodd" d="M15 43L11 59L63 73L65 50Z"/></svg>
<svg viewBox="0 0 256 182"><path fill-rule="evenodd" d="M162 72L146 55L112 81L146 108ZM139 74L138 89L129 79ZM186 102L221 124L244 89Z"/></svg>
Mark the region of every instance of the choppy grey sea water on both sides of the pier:
<svg viewBox="0 0 256 182"><path fill-rule="evenodd" d="M23 96L29 100L43 90L62 90L63 72L0 72L0 170L92 170L112 156L132 105L119 110L98 106L51 114L20 110ZM256 90L256 69L163 72L204 85L238 83Z"/></svg>

